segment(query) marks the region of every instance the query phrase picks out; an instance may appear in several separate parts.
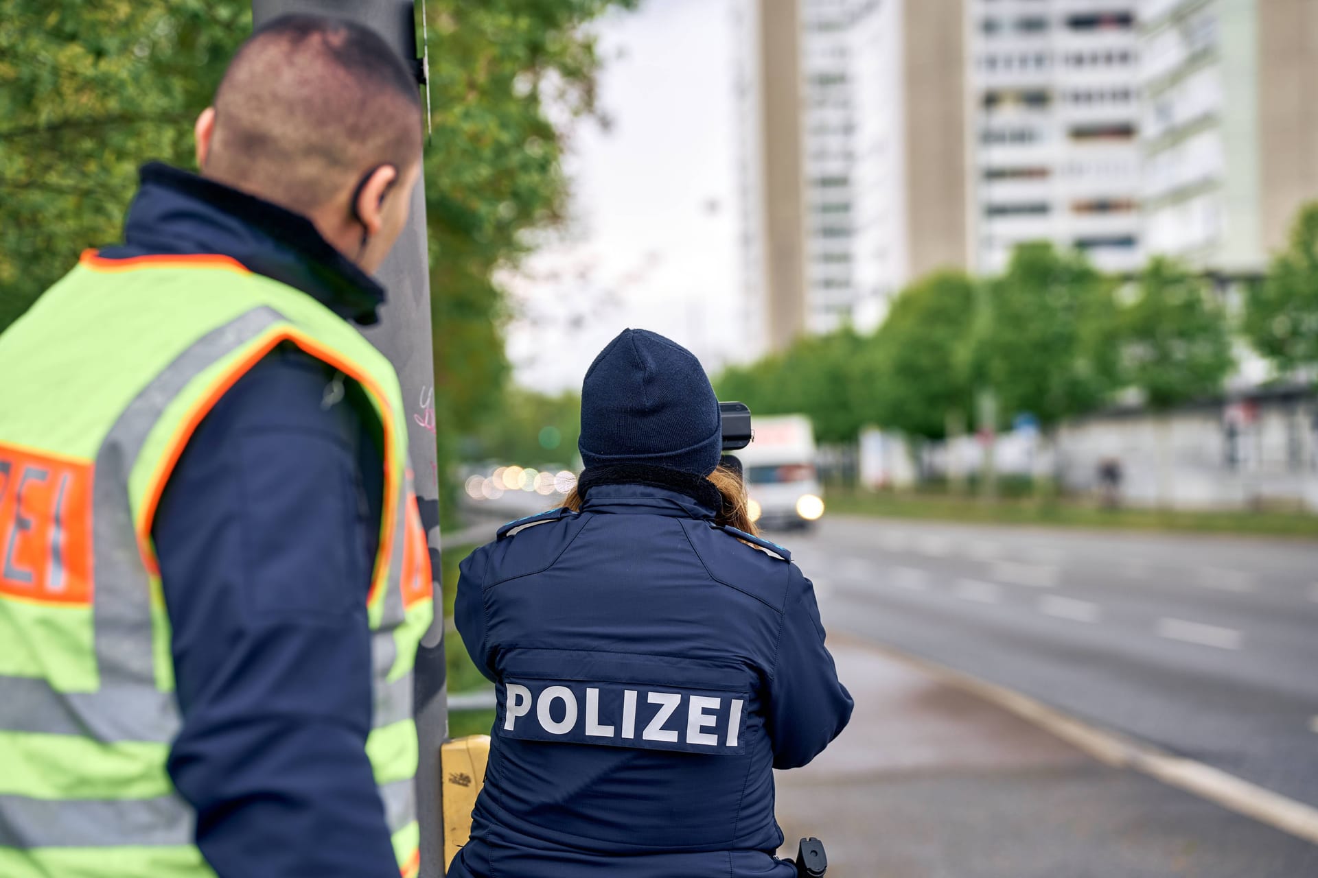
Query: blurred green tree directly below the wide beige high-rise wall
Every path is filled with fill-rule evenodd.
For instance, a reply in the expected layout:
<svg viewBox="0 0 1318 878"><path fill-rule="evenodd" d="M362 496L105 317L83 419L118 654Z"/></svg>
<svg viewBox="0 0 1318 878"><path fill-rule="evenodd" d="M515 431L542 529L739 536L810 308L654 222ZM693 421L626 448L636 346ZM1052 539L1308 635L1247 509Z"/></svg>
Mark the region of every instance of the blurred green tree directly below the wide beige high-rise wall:
<svg viewBox="0 0 1318 878"><path fill-rule="evenodd" d="M873 341L883 426L936 440L949 424L969 423L974 320L975 288L962 272L932 274L902 291Z"/></svg>

